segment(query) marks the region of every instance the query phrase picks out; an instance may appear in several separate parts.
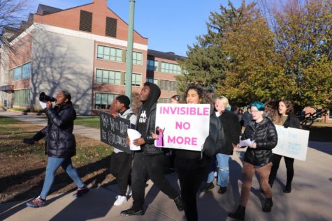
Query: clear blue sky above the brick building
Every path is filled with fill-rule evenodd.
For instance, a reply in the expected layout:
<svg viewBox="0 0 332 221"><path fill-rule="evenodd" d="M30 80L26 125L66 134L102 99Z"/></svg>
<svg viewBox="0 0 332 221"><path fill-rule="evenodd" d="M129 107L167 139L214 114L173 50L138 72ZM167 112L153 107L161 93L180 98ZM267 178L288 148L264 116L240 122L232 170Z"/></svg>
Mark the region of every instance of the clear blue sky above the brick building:
<svg viewBox="0 0 332 221"><path fill-rule="evenodd" d="M38 4L55 8L72 8L93 0L29 0L29 13L36 13ZM239 7L241 0L232 0ZM186 56L187 45L196 43L196 36L207 32L210 12L220 12L227 0L136 0L134 29L148 38L148 48L175 52ZM125 22L129 20L129 0L108 0L108 8Z"/></svg>

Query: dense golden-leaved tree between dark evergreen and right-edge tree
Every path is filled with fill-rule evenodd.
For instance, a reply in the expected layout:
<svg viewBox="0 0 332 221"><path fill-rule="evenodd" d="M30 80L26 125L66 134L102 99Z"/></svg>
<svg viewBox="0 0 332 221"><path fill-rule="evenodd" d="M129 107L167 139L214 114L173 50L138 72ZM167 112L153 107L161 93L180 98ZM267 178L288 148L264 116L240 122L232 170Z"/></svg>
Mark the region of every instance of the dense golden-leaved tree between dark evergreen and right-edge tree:
<svg viewBox="0 0 332 221"><path fill-rule="evenodd" d="M243 1L239 16L226 28L221 41L227 63L219 93L243 105L291 93L291 86L284 86L280 78L273 32L255 3L245 6Z"/></svg>

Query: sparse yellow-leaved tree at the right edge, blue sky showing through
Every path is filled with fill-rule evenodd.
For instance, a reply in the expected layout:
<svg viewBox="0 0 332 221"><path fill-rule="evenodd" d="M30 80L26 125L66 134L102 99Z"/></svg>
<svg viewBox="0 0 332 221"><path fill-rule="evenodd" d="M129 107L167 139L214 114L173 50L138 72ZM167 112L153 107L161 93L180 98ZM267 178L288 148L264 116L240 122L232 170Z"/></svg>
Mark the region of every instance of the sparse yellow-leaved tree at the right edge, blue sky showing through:
<svg viewBox="0 0 332 221"><path fill-rule="evenodd" d="M328 107L332 86L332 1L291 0L273 8L273 31L284 77L297 105Z"/></svg>

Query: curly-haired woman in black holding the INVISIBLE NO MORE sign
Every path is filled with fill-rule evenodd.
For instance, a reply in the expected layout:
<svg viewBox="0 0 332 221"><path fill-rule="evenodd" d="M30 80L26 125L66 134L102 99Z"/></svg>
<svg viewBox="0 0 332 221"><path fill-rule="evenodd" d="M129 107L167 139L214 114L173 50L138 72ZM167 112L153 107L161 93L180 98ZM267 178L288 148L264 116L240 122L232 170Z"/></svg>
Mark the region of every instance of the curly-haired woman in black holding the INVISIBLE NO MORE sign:
<svg viewBox="0 0 332 221"><path fill-rule="evenodd" d="M192 84L189 85L185 92L185 99L187 104L204 104L210 103L207 100L214 101L215 98L208 98L213 93L208 93L203 87ZM211 128L215 130L212 130ZM214 139L221 140L224 143L224 135L219 136L219 130L222 128L222 123L217 119L214 112L210 114L210 132L209 134ZM213 133L213 135L211 134ZM215 142L217 142L215 140ZM205 141L206 142L206 141ZM178 171L178 177L181 188L181 197L183 201L183 208L187 220L198 220L196 194L199 191L199 187L208 174L210 165L210 157L205 155L201 151L188 151L188 150L176 150L175 152L175 168Z"/></svg>

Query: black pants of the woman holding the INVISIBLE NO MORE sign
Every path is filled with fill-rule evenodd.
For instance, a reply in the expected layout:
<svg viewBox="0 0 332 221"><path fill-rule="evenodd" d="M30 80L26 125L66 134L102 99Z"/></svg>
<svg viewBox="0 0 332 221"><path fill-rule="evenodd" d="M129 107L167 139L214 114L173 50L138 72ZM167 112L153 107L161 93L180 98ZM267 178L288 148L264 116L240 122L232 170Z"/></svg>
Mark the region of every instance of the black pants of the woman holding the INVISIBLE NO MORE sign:
<svg viewBox="0 0 332 221"><path fill-rule="evenodd" d="M210 158L193 160L175 156L175 168L178 171L181 197L188 221L198 220L196 195L202 181L208 174Z"/></svg>

